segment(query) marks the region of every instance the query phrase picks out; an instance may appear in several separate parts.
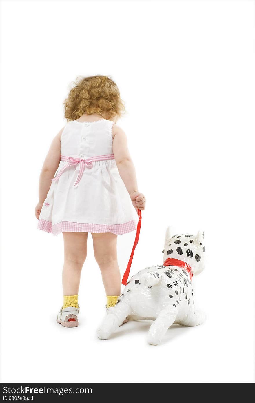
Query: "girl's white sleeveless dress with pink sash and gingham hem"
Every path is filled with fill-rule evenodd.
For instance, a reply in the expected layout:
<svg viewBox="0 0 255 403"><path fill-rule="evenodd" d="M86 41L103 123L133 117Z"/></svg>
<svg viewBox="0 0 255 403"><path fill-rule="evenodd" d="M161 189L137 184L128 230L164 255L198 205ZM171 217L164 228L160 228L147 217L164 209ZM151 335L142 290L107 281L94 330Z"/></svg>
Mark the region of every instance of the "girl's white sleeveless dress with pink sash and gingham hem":
<svg viewBox="0 0 255 403"><path fill-rule="evenodd" d="M111 120L71 120L61 135L61 155L82 160L110 155ZM68 165L60 161L56 175ZM136 229L135 209L120 178L114 159L93 161L77 185L80 163L69 165L53 181L39 216L38 229L61 232L111 232L117 235ZM75 185L75 186L74 186Z"/></svg>

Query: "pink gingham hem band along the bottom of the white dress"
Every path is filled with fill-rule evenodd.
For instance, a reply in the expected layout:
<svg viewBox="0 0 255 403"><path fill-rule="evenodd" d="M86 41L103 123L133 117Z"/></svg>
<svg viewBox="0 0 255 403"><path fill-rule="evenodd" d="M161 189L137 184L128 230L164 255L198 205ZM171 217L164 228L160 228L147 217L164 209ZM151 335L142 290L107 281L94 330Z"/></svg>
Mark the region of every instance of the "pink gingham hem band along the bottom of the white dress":
<svg viewBox="0 0 255 403"><path fill-rule="evenodd" d="M135 231L136 224L135 220L124 222L123 224L85 224L80 222L68 222L62 221L58 224L52 225L50 221L38 220L38 229L48 232L53 235L58 235L61 232L92 232L92 233L102 233L111 232L116 235L123 235L131 231Z"/></svg>

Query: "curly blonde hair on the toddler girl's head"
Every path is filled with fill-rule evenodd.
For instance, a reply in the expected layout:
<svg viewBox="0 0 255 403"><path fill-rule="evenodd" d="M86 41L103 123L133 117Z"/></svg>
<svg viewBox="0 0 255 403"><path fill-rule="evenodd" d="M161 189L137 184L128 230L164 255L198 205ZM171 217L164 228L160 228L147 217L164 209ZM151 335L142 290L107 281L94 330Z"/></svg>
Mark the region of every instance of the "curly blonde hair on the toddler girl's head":
<svg viewBox="0 0 255 403"><path fill-rule="evenodd" d="M105 119L124 113L120 91L110 77L96 75L77 78L74 87L64 100L64 116L69 122L78 119L84 113L88 115L98 113Z"/></svg>

